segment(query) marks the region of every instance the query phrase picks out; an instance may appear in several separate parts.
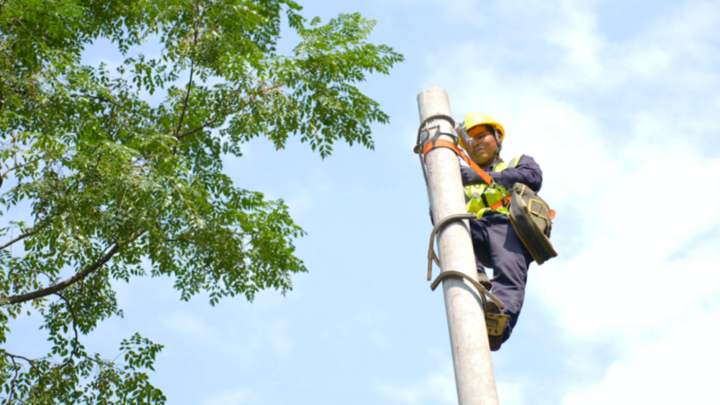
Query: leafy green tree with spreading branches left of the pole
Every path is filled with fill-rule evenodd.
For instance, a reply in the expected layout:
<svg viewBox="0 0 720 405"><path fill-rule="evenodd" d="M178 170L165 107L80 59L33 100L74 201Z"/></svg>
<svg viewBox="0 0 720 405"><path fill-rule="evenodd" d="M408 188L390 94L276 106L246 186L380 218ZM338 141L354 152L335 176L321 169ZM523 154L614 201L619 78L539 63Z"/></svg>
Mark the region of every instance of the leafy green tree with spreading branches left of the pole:
<svg viewBox="0 0 720 405"><path fill-rule="evenodd" d="M206 292L214 305L285 293L306 271L286 205L236 187L222 157L260 136L276 148L299 136L323 158L337 141L373 148L370 125L388 116L355 86L403 57L367 42L374 22L358 14L323 24L300 11L292 0L0 0L0 187L13 179L0 190L0 343L32 309L52 344L41 358L0 349L6 403L165 402L146 374L161 345L128 337L115 363L80 340L122 316L115 282L171 276L183 300ZM282 21L300 38L289 55L276 49ZM117 69L82 64L99 39L123 55ZM159 57L137 53L147 41ZM32 223L7 220L19 204Z"/></svg>

